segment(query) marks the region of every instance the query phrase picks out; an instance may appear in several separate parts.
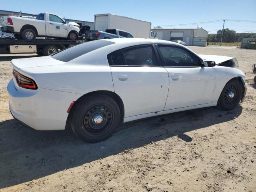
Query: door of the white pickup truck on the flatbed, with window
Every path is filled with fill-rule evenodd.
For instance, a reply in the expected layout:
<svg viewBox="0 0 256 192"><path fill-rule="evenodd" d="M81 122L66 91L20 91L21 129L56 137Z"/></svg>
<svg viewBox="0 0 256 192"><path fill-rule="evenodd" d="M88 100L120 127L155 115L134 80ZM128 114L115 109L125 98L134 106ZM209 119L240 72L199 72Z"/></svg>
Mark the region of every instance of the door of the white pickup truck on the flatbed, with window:
<svg viewBox="0 0 256 192"><path fill-rule="evenodd" d="M68 24L64 23L60 17L49 14L49 20L46 23L50 36L66 37L68 35Z"/></svg>

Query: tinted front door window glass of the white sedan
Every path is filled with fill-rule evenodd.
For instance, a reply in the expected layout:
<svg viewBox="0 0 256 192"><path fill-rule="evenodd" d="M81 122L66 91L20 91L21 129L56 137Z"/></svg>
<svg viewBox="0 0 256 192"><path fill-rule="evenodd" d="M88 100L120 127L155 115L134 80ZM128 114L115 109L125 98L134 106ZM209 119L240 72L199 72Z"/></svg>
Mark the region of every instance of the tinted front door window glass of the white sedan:
<svg viewBox="0 0 256 192"><path fill-rule="evenodd" d="M166 62L165 66L201 66L200 60L194 54L183 48L159 46L159 50Z"/></svg>

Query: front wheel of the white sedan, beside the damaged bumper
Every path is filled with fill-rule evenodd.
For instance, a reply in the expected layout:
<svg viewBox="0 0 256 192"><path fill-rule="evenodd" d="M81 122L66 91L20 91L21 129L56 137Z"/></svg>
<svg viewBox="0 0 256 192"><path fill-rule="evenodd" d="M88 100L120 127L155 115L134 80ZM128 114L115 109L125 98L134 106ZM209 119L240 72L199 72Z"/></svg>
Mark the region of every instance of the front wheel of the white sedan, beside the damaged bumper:
<svg viewBox="0 0 256 192"><path fill-rule="evenodd" d="M222 110L232 110L240 103L243 96L243 87L239 80L230 80L223 88L217 106Z"/></svg>

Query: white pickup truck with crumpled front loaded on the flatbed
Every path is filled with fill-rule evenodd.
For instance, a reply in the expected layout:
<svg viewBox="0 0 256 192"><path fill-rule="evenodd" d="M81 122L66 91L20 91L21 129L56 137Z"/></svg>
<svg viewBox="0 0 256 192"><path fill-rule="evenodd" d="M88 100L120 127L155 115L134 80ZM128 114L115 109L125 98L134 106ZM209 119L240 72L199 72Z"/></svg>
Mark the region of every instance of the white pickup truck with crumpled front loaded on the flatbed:
<svg viewBox="0 0 256 192"><path fill-rule="evenodd" d="M40 13L34 18L22 16L2 16L2 32L13 33L16 38L33 40L37 36L68 38L78 40L79 28L69 24L53 13Z"/></svg>

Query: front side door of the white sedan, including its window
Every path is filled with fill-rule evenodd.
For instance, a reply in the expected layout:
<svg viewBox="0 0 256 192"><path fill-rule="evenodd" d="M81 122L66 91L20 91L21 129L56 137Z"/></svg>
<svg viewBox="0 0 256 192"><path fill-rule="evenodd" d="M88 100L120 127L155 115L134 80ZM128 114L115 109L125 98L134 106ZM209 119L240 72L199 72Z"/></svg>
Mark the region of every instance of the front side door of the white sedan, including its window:
<svg viewBox="0 0 256 192"><path fill-rule="evenodd" d="M215 73L201 65L199 58L180 46L159 45L169 74L169 93L165 110L214 102Z"/></svg>

